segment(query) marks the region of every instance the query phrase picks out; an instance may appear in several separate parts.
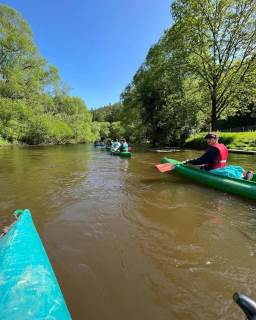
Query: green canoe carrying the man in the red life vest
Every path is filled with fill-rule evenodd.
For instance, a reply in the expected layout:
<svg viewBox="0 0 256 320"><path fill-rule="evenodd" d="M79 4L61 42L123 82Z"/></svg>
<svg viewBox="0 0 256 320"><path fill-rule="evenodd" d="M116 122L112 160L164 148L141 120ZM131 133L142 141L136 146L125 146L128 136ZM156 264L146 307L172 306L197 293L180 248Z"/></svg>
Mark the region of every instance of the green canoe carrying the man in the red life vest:
<svg viewBox="0 0 256 320"><path fill-rule="evenodd" d="M188 177L193 181L206 184L209 187L232 193L244 198L256 200L256 177L253 180L247 181L243 179L236 179L230 177L224 177L221 175L213 174L208 171L199 170L182 164L180 161L174 159L163 158L161 163L175 164L175 168L172 172L181 176Z"/></svg>

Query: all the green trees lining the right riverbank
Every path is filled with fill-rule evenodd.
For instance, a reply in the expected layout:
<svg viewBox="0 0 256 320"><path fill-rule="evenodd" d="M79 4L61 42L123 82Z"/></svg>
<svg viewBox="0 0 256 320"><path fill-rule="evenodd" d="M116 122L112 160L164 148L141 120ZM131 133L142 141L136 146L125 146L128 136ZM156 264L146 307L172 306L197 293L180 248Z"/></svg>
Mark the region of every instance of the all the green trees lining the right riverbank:
<svg viewBox="0 0 256 320"><path fill-rule="evenodd" d="M255 114L256 2L174 0L173 25L121 95L124 135L179 144ZM251 122L254 122L251 118Z"/></svg>

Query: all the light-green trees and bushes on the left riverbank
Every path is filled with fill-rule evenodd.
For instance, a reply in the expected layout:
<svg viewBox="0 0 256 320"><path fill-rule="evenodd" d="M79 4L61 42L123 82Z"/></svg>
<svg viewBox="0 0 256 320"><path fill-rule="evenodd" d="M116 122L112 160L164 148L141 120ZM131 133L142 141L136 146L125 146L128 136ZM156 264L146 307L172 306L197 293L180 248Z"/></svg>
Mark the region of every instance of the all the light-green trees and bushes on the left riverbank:
<svg viewBox="0 0 256 320"><path fill-rule="evenodd" d="M68 96L58 70L39 55L27 22L0 5L0 140L69 143L98 136L83 100Z"/></svg>

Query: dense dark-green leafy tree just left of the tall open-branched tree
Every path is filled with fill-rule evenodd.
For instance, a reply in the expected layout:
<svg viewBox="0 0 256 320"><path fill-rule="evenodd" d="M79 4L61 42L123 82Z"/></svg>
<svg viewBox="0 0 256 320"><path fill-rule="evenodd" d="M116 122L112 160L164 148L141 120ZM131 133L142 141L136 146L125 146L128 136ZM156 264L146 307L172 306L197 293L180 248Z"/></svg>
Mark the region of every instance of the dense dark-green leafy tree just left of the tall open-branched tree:
<svg viewBox="0 0 256 320"><path fill-rule="evenodd" d="M137 113L137 127L143 125L141 132L152 144L182 143L195 128L201 106L198 82L180 68L169 41L166 33L149 50L122 95L124 109Z"/></svg>

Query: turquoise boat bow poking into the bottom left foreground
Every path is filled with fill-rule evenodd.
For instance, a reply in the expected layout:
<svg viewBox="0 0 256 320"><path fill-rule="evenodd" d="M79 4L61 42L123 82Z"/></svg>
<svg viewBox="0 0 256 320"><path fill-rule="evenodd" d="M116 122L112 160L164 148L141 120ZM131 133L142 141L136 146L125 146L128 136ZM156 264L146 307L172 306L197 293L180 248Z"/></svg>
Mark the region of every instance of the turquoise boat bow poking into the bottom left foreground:
<svg viewBox="0 0 256 320"><path fill-rule="evenodd" d="M0 319L71 319L30 211L0 238Z"/></svg>

